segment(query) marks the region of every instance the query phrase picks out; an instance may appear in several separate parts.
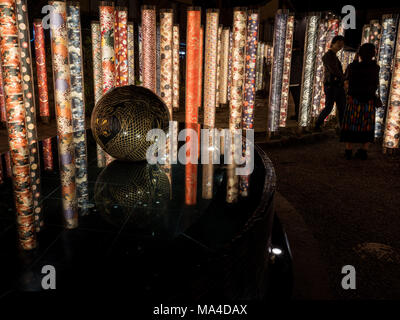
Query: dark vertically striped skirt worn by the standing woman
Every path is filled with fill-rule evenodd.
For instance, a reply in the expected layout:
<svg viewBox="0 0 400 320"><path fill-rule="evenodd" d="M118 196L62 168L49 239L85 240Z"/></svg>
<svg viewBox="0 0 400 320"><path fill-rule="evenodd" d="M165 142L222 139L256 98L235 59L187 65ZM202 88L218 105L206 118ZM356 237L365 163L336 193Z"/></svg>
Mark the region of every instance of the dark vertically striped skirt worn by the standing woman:
<svg viewBox="0 0 400 320"><path fill-rule="evenodd" d="M348 96L340 141L366 143L374 141L375 101L358 101Z"/></svg>

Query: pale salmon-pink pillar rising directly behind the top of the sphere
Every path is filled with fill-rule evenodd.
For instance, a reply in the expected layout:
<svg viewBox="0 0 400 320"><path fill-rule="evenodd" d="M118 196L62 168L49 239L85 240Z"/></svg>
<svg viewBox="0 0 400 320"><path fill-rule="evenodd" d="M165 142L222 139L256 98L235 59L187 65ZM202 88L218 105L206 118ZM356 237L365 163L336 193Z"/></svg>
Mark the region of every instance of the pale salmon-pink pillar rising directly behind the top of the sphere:
<svg viewBox="0 0 400 320"><path fill-rule="evenodd" d="M156 92L156 8L142 7L142 77L143 86Z"/></svg>

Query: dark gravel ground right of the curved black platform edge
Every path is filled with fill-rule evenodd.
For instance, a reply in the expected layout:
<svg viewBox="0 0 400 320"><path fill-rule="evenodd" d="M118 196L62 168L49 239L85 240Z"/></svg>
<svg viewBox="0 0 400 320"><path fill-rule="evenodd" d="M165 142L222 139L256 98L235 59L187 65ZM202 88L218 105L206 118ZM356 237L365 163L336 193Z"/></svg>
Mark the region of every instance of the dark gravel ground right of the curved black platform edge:
<svg viewBox="0 0 400 320"><path fill-rule="evenodd" d="M371 146L369 159L345 160L337 137L268 148L278 191L302 215L328 267L335 299L400 299L400 156ZM344 265L356 290L344 290Z"/></svg>

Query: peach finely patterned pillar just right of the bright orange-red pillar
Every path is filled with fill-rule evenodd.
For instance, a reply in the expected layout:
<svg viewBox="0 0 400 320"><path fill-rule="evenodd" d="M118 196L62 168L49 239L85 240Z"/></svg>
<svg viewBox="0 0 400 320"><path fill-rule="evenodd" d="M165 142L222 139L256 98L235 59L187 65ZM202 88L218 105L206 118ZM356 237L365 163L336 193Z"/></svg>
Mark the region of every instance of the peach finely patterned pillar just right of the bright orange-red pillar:
<svg viewBox="0 0 400 320"><path fill-rule="evenodd" d="M206 13L206 39L204 54L204 125L215 126L215 102L217 91L217 50L219 10Z"/></svg>

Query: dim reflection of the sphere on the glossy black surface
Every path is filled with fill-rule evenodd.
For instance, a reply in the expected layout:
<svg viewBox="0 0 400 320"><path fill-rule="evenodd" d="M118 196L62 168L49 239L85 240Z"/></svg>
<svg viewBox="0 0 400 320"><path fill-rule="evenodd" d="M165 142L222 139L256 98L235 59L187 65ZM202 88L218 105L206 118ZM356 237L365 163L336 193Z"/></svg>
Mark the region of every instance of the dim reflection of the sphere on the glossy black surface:
<svg viewBox="0 0 400 320"><path fill-rule="evenodd" d="M110 223L144 231L165 229L170 182L165 172L148 163L111 162L98 176L95 202Z"/></svg>

